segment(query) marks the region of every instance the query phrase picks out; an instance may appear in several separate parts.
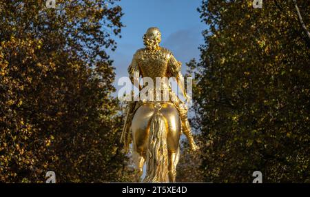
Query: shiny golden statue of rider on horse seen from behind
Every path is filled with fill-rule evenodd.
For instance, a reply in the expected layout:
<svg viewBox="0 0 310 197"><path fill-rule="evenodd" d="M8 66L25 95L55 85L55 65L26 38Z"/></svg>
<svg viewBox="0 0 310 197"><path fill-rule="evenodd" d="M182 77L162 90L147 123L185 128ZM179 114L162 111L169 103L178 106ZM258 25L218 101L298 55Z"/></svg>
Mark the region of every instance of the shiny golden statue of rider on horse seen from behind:
<svg viewBox="0 0 310 197"><path fill-rule="evenodd" d="M146 77L153 81L157 78L174 77L185 98L189 98L181 83L181 63L174 58L172 52L161 48L160 42L159 29L149 28L143 36L145 48L136 51L128 68L130 80L139 84L136 81L140 76L143 83ZM143 87L138 85L138 88L141 90ZM128 103L121 141L126 152L133 141L136 182L141 179L145 161L147 172L143 182L175 182L176 165L180 156L180 135L185 134L192 150L198 149L187 119L187 106L172 92L167 80L161 80L160 88L148 88L147 92L150 94L147 98L155 96L156 100L142 99ZM163 99L163 95L168 97Z"/></svg>

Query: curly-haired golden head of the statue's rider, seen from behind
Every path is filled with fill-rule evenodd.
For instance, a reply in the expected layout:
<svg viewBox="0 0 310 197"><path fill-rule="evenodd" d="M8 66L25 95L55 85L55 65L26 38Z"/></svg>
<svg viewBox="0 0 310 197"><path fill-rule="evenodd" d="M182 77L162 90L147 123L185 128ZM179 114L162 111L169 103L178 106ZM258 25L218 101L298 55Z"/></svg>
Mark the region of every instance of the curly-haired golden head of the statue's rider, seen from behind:
<svg viewBox="0 0 310 197"><path fill-rule="evenodd" d="M161 42L161 32L158 28L148 28L143 35L143 43L148 50L157 50Z"/></svg>

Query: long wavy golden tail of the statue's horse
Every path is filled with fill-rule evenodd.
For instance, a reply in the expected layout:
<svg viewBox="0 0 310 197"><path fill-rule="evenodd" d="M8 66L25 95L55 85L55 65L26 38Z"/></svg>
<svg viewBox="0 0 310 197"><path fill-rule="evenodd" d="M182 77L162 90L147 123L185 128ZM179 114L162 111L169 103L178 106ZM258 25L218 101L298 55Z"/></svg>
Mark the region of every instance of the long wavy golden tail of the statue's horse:
<svg viewBox="0 0 310 197"><path fill-rule="evenodd" d="M147 172L143 182L163 183L168 178L167 127L161 114L161 104L155 106L149 129L149 143L146 153Z"/></svg>

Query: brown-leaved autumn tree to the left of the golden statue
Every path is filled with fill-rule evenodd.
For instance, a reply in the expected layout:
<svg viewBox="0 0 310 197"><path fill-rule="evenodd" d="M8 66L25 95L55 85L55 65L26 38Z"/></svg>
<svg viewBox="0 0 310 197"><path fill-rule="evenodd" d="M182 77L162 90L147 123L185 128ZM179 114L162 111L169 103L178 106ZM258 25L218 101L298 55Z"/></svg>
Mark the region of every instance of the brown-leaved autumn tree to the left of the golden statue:
<svg viewBox="0 0 310 197"><path fill-rule="evenodd" d="M0 181L127 180L117 145L114 1L1 1Z"/></svg>

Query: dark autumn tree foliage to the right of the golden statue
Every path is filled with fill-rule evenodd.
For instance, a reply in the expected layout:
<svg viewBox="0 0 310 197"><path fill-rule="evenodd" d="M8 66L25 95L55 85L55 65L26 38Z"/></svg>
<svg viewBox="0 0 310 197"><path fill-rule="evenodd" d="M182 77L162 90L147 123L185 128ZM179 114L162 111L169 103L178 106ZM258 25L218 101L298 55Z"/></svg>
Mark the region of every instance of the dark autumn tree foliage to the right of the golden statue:
<svg viewBox="0 0 310 197"><path fill-rule="evenodd" d="M310 182L307 1L203 1L194 87L206 182ZM300 15L300 16L299 16ZM300 17L303 18L302 23ZM207 143L209 147L207 146Z"/></svg>

